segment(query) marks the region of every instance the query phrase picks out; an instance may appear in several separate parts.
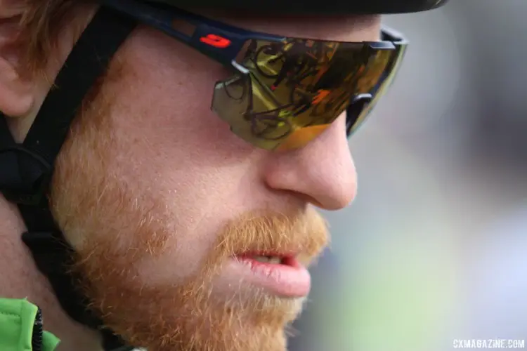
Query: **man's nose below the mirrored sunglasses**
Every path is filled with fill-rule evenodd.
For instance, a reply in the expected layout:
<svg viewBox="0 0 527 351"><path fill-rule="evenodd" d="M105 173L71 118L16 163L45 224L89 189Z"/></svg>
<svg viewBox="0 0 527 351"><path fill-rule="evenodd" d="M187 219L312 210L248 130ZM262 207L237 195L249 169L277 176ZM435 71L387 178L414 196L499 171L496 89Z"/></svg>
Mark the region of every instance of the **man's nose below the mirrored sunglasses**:
<svg viewBox="0 0 527 351"><path fill-rule="evenodd" d="M273 153L265 170L268 187L294 192L325 210L350 204L357 192L357 174L345 124L343 114L301 149Z"/></svg>

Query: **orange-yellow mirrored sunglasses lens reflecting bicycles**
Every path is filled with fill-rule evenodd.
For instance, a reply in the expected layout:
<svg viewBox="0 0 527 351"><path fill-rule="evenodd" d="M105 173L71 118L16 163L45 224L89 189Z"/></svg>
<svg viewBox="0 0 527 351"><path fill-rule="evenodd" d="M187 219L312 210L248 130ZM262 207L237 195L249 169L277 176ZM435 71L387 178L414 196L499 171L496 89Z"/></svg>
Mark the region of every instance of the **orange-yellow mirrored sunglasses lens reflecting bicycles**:
<svg viewBox="0 0 527 351"><path fill-rule="evenodd" d="M376 100L401 53L307 39L249 41L245 48L239 72L216 84L212 108L236 135L266 150L303 147L356 95L376 91Z"/></svg>

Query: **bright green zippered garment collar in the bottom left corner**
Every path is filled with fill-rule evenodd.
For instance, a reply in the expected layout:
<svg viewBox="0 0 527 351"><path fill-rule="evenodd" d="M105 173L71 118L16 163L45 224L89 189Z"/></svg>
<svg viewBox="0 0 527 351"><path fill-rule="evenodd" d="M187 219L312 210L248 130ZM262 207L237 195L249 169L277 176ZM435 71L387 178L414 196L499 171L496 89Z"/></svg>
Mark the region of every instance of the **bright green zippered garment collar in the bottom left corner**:
<svg viewBox="0 0 527 351"><path fill-rule="evenodd" d="M26 299L0 298L0 350L56 350L60 340L41 330L39 314L39 307Z"/></svg>

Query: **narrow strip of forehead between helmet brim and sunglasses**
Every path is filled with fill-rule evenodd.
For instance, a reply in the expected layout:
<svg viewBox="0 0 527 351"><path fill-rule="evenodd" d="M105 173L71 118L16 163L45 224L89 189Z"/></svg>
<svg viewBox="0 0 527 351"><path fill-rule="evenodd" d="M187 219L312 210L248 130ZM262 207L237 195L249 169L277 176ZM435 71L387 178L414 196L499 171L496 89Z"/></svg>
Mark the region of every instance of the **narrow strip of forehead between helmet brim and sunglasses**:
<svg viewBox="0 0 527 351"><path fill-rule="evenodd" d="M379 32L381 29L380 15L271 16L247 12L193 12L244 29L285 37L334 41L375 41L379 40Z"/></svg>

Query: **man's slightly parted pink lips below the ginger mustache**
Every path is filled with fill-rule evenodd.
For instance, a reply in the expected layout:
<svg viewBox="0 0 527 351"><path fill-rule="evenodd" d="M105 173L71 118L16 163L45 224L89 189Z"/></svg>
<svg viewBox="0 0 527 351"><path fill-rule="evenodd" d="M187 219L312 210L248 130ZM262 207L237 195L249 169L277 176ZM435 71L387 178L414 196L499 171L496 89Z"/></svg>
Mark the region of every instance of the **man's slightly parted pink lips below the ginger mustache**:
<svg viewBox="0 0 527 351"><path fill-rule="evenodd" d="M269 253L259 255L273 256ZM308 295L311 274L294 256L275 255L282 257L281 264L262 263L251 256L254 255L245 253L230 258L233 274L275 296L303 298Z"/></svg>

